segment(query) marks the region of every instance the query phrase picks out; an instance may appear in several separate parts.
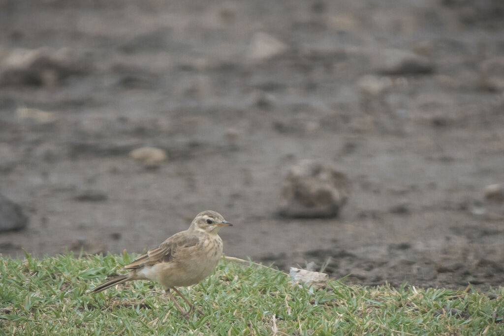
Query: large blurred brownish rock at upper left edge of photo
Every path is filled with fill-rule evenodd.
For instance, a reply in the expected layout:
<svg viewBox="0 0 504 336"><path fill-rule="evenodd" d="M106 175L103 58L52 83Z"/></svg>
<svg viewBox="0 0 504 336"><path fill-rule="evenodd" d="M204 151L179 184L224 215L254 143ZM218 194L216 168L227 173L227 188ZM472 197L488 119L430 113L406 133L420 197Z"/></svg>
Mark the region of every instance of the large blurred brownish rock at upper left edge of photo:
<svg viewBox="0 0 504 336"><path fill-rule="evenodd" d="M70 49L14 49L0 63L0 85L54 87L71 75L82 75L89 65Z"/></svg>

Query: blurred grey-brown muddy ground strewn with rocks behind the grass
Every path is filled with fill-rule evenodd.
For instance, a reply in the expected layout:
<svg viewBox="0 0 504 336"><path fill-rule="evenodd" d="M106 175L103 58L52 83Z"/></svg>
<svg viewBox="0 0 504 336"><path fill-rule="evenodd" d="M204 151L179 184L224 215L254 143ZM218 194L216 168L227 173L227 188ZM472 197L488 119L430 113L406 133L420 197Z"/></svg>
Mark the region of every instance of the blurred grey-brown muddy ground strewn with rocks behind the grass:
<svg viewBox="0 0 504 336"><path fill-rule="evenodd" d="M499 0L0 0L0 253L504 282Z"/></svg>

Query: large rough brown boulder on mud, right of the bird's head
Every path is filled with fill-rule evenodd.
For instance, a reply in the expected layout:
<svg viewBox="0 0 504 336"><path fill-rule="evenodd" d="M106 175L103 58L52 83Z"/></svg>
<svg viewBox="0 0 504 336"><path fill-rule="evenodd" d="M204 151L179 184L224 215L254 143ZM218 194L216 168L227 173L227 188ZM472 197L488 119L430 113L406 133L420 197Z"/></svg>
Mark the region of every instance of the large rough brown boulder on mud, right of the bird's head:
<svg viewBox="0 0 504 336"><path fill-rule="evenodd" d="M288 172L279 213L287 217L335 217L346 204L350 181L333 166L303 160Z"/></svg>

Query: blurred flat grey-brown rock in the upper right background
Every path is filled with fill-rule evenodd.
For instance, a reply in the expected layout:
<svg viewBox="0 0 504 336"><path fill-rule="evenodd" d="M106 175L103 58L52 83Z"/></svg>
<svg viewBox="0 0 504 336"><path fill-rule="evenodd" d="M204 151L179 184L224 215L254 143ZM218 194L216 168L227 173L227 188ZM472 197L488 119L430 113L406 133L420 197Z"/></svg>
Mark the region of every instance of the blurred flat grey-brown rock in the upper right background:
<svg viewBox="0 0 504 336"><path fill-rule="evenodd" d="M434 72L434 63L411 51L384 49L373 55L377 73L388 75L421 74Z"/></svg>

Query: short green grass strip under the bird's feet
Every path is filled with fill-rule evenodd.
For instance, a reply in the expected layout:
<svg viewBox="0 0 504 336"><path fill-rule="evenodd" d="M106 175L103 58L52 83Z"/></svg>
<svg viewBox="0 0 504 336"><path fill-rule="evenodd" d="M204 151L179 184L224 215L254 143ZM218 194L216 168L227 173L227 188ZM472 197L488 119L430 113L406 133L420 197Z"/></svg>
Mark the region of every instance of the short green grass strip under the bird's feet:
<svg viewBox="0 0 504 336"><path fill-rule="evenodd" d="M1 335L504 335L504 288L347 286L313 291L269 268L222 261L192 288L204 312L184 319L162 288L136 281L86 294L133 257L0 258ZM188 309L184 302L180 304Z"/></svg>

